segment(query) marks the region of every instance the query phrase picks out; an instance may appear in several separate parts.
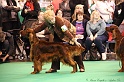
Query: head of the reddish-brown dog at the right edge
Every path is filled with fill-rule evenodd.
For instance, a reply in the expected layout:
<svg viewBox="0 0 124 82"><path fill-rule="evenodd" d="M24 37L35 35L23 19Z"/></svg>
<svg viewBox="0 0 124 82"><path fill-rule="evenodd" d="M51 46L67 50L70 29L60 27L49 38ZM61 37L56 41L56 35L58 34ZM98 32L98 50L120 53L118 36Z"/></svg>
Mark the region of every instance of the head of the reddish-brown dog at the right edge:
<svg viewBox="0 0 124 82"><path fill-rule="evenodd" d="M117 34L120 34L119 28L116 25L106 27L106 31L112 33L114 39L116 38Z"/></svg>

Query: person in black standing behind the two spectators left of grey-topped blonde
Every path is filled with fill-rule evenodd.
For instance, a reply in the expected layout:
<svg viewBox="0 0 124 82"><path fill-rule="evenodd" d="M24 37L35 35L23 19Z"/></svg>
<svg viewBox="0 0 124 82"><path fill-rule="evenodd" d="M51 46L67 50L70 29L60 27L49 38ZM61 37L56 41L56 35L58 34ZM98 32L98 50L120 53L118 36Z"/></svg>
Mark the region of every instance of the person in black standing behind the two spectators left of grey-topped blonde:
<svg viewBox="0 0 124 82"><path fill-rule="evenodd" d="M86 14L87 16L90 16L89 12L88 12L88 0L69 0L69 7L71 9L71 16L74 14L75 11L75 7L76 5L81 4L84 5L83 9L84 9L84 14ZM72 19L71 19L72 21Z"/></svg>

